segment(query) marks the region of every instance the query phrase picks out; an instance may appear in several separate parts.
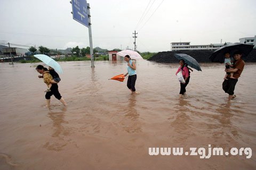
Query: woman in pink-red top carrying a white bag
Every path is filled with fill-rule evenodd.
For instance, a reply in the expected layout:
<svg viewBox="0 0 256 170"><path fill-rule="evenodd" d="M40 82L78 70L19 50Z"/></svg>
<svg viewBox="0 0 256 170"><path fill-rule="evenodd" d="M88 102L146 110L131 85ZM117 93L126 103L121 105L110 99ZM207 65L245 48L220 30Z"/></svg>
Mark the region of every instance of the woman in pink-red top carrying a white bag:
<svg viewBox="0 0 256 170"><path fill-rule="evenodd" d="M182 71L183 78L185 80L185 83L180 83L180 98L182 98L184 95L186 95L186 87L189 83L190 75L189 75L189 70L188 66L185 63L183 59L179 61L180 67L176 72L176 75Z"/></svg>

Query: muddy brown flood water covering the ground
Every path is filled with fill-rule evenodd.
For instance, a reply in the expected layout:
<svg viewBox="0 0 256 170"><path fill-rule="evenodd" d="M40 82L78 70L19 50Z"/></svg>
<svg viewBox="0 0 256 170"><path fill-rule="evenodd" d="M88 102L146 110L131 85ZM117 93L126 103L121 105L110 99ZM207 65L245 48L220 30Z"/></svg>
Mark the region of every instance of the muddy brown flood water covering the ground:
<svg viewBox="0 0 256 170"><path fill-rule="evenodd" d="M188 97L179 99L179 64L137 61L138 95L125 62L61 62L59 91L45 107L46 84L35 66L0 63L0 169L255 169L256 64L246 63L228 102L224 64L191 72ZM149 147L251 148L252 156L148 154Z"/></svg>

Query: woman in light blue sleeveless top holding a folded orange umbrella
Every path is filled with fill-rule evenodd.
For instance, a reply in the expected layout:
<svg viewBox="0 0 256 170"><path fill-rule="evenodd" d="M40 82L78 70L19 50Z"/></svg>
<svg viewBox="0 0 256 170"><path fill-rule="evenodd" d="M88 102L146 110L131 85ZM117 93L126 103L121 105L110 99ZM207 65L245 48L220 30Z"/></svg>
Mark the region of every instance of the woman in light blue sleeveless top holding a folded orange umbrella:
<svg viewBox="0 0 256 170"><path fill-rule="evenodd" d="M132 94L136 94L135 89L135 82L137 79L137 73L136 73L136 65L131 60L129 55L124 56L124 61L126 61L127 64L127 73L124 74L124 77L126 77L127 74L129 74L128 80L127 80L127 87L132 91Z"/></svg>

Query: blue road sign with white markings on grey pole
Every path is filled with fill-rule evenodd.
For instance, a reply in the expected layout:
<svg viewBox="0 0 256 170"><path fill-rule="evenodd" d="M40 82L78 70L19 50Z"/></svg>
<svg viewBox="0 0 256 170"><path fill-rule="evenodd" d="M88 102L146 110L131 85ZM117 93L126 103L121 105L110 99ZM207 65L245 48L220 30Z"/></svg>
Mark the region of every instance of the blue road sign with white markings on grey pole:
<svg viewBox="0 0 256 170"><path fill-rule="evenodd" d="M73 19L89 27L86 0L72 0Z"/></svg>

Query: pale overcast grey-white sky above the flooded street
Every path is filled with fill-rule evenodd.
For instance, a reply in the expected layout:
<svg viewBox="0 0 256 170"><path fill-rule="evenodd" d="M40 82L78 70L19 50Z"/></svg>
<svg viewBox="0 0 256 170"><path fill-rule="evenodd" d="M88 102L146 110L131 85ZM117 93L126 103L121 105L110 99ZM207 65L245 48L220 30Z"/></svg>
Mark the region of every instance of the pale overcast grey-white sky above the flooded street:
<svg viewBox="0 0 256 170"><path fill-rule="evenodd" d="M87 3L91 6L93 47L108 50L134 48L134 30L138 32L140 52L167 51L172 42L218 44L222 39L222 43L235 43L239 38L256 35L255 0L87 0ZM69 1L63 0L0 0L0 44L42 45L53 49L87 47L88 28L73 20L71 11Z"/></svg>

